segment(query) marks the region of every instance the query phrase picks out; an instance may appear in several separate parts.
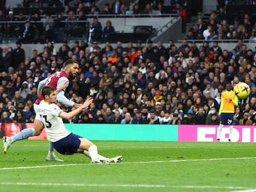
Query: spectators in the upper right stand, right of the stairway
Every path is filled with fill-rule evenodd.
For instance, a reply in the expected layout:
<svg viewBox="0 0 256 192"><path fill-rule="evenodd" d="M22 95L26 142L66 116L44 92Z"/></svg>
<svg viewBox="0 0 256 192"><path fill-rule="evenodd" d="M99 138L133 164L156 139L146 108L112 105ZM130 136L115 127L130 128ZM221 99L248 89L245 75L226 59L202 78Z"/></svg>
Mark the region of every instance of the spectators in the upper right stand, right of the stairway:
<svg viewBox="0 0 256 192"><path fill-rule="evenodd" d="M217 10L212 10L208 23L203 19L193 25L187 32L187 40L229 40L236 42L242 39L247 42L256 41L256 18L252 14L246 13L242 17L233 17L229 21L228 17L222 15Z"/></svg>

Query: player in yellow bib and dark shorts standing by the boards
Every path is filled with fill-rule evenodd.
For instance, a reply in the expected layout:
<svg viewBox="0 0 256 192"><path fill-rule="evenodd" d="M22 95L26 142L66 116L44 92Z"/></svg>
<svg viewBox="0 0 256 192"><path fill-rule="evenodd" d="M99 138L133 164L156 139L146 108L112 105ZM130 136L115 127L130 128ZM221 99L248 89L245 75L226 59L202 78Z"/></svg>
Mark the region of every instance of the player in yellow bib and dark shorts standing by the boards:
<svg viewBox="0 0 256 192"><path fill-rule="evenodd" d="M221 115L220 127L218 128L218 139L220 141L221 131L224 125L229 125L229 139L231 141L233 131L233 120L235 107L238 105L238 98L232 90L231 83L226 84L226 91L221 93L221 105L218 115Z"/></svg>

